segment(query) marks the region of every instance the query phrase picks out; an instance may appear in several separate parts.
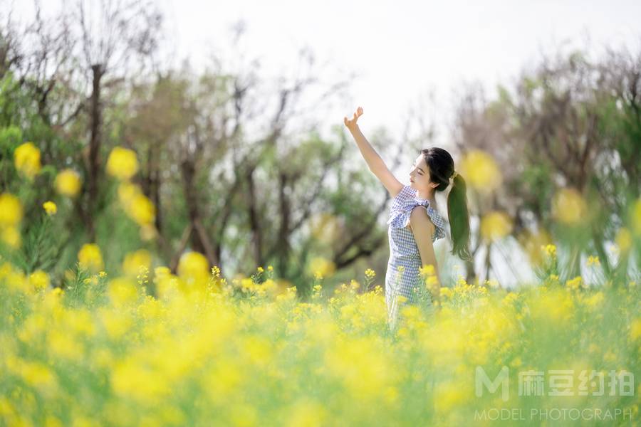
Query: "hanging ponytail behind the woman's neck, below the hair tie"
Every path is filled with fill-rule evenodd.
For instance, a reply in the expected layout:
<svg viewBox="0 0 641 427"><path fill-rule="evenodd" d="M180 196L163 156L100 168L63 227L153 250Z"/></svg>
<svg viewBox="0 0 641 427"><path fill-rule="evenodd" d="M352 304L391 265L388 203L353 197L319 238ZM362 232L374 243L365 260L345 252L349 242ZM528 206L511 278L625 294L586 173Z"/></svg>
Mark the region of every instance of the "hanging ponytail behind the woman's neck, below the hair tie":
<svg viewBox="0 0 641 427"><path fill-rule="evenodd" d="M472 260L469 253L467 184L460 174L456 174L452 179L452 189L447 195L447 218L452 234L452 255L458 255L462 260Z"/></svg>

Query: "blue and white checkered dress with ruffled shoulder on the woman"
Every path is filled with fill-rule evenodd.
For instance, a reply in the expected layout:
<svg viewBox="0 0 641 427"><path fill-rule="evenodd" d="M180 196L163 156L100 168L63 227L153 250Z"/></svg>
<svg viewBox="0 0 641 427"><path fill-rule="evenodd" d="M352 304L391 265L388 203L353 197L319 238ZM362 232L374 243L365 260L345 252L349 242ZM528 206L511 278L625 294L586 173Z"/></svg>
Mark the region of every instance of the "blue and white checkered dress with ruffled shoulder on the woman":
<svg viewBox="0 0 641 427"><path fill-rule="evenodd" d="M397 295L407 297L407 302L415 302L415 292L412 290L421 285L419 268L422 265L421 255L416 244L414 233L410 229L410 214L415 206L424 206L427 215L434 224L432 242L445 238L445 221L432 208L429 200L420 199L417 191L411 186L404 185L392 201L390 226L387 236L390 240L390 260L385 273L385 302L390 320L395 321L398 314Z"/></svg>

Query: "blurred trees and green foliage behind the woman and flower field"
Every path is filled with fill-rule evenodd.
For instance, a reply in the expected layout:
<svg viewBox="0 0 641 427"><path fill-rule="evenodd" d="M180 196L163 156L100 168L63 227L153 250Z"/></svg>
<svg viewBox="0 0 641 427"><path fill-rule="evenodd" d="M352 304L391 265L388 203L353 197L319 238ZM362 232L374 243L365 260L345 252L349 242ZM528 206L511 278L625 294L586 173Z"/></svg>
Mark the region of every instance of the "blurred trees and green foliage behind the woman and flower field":
<svg viewBox="0 0 641 427"><path fill-rule="evenodd" d="M323 86L301 73L266 91L254 62L167 69L152 2L105 1L98 14L83 4L26 26L1 16L0 189L21 204L21 221L2 224L4 256L27 273L50 270L53 285L88 243L113 274L139 250L149 267L172 272L185 251L225 275L273 265L299 286L315 273L340 283L366 267L384 272L385 189L342 117L328 139L303 120L302 100L317 86L315 107L348 80ZM637 274L641 52L556 53L491 96L474 84L459 95L444 148L469 184L476 261L465 278L521 270L517 251L536 267L548 243L565 254L563 280L588 255L617 283ZM411 144L385 130L368 137L390 169L433 143L429 134Z"/></svg>

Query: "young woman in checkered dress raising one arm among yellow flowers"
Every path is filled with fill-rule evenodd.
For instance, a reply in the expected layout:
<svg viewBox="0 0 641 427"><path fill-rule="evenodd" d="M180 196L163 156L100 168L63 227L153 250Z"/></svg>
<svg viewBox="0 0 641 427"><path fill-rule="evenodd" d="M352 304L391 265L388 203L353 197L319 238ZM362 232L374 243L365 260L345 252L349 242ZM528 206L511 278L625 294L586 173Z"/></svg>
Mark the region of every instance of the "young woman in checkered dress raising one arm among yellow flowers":
<svg viewBox="0 0 641 427"><path fill-rule="evenodd" d="M377 176L392 196L390 218L387 221L390 240L390 260L385 274L385 302L390 324L395 325L398 315L399 296L409 303L416 302L415 288L422 285L419 268L434 266L439 270L433 243L444 238L445 221L439 215L434 194L450 188L447 196L447 216L452 233L452 254L469 260L469 213L467 210L466 185L463 177L454 170L452 156L442 148L422 149L410 169L410 185L404 185L387 169L385 162L370 145L357 121L363 115L358 107L350 120L345 117L345 126L352 133L370 171ZM432 297L439 299L437 284Z"/></svg>

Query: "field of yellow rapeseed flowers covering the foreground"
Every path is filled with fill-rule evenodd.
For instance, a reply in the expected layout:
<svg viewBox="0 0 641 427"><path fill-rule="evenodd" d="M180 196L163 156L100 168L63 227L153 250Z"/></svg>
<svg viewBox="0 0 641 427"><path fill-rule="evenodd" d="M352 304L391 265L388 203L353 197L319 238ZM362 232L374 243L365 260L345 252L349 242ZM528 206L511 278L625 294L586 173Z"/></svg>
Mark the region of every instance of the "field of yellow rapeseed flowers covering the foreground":
<svg viewBox="0 0 641 427"><path fill-rule="evenodd" d="M97 246L80 252L102 263ZM390 329L380 285L318 283L303 301L295 288L272 291L272 268L253 276L267 280L228 283L192 251L177 275L152 270L152 295L131 275L150 268L148 253L124 264L127 275L100 271L68 289L0 264L4 425L461 426L489 423L479 419L488 408L602 406L638 416L626 392L641 365L635 286L592 290L578 276L506 290L459 278L437 310L402 305ZM494 380L501 369L506 399L479 394L479 370ZM573 379L559 383L566 395L547 387L558 369ZM595 381L581 385L592 371L604 372L606 398ZM528 372L544 375L542 394L519 392Z"/></svg>

